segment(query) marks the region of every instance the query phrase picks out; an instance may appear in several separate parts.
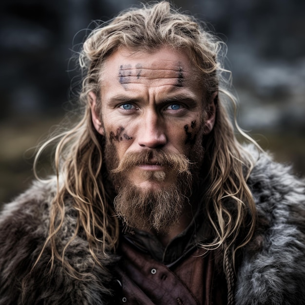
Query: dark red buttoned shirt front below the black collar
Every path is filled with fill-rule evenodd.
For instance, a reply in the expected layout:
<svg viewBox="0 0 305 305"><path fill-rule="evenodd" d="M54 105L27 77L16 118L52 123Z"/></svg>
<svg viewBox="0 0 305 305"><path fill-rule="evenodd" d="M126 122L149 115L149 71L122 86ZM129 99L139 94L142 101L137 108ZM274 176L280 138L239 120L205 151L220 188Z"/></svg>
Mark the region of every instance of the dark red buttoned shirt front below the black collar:
<svg viewBox="0 0 305 305"><path fill-rule="evenodd" d="M213 251L195 248L178 264L166 266L132 245L121 245L116 267L117 304L227 304L227 285L216 272Z"/></svg>

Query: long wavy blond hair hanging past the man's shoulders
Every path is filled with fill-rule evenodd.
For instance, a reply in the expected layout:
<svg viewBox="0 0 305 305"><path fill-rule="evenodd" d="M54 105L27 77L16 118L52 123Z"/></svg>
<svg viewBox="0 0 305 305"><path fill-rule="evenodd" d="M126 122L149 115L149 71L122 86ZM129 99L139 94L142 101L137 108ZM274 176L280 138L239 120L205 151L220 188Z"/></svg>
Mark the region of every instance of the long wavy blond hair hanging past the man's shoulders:
<svg viewBox="0 0 305 305"><path fill-rule="evenodd" d="M227 91L229 80L223 77L224 73L228 74L223 68L222 59L225 45L196 19L179 13L168 2L162 1L123 11L90 33L79 53L83 73L79 101L80 108L84 109L83 117L74 128L45 143L36 156L34 166L43 149L50 142L59 140L55 152L57 195L52 205L50 232L45 245L51 246L52 262L59 259L72 272L73 268L64 260L65 249L60 253L56 244L56 235L65 217L67 196L72 197L78 213L76 231L69 243L82 227L92 256L99 264L95 256L97 249L102 249L105 256L109 255L115 251L119 235L118 220L114 217L112 202L102 177L102 138L92 124L89 92L99 97L103 63L118 48L153 52L162 45L188 52L191 62L202 75L202 86L206 92L203 102L215 91L220 96L216 100L214 129L205 139L203 165L209 173L206 209L215 238L211 244L202 246L223 247L226 254L248 243L253 234L256 212L247 186L253 161L237 142L224 107L228 101L235 103L234 96ZM251 141L237 125L236 128ZM62 181L59 182L59 179ZM96 231L102 232L102 237L97 237Z"/></svg>

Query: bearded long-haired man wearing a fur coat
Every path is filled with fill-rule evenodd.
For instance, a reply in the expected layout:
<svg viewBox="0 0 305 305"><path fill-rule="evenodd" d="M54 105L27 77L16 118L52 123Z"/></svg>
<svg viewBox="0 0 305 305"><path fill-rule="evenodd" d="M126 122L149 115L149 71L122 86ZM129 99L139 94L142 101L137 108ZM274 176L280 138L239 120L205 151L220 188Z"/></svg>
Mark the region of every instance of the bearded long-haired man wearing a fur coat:
<svg viewBox="0 0 305 305"><path fill-rule="evenodd" d="M57 174L2 211L0 304L305 303L304 184L238 144L219 46L167 2L90 34Z"/></svg>

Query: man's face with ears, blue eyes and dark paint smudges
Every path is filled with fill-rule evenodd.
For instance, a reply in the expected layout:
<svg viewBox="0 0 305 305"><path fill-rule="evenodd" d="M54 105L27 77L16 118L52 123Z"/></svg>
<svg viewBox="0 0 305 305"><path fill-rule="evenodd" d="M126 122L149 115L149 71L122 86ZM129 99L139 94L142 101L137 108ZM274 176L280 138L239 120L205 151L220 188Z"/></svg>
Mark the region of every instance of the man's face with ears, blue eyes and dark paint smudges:
<svg viewBox="0 0 305 305"><path fill-rule="evenodd" d="M151 152L201 161L194 151L201 147L203 133L212 129L214 108L211 103L212 110L205 111L205 92L186 53L166 47L152 54L118 50L104 64L100 101L90 96L95 129L106 137L109 171L130 153L135 159L148 152L118 171L115 187L128 184L147 193L176 184L176 165L164 164Z"/></svg>

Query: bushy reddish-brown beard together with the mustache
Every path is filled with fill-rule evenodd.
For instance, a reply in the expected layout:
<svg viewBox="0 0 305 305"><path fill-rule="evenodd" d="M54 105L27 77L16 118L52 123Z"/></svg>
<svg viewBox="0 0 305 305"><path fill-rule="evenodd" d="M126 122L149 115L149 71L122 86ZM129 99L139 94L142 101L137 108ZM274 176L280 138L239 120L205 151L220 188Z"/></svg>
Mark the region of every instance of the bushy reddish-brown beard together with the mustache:
<svg viewBox="0 0 305 305"><path fill-rule="evenodd" d="M160 149L129 152L118 160L113 143L106 140L105 163L109 179L117 190L114 210L123 224L127 228L168 233L179 222L185 206L189 204L192 178L202 158L203 150L196 145L192 150L192 161L184 154ZM141 177L159 183L160 187L151 189L134 185L128 173L151 159L164 170L141 171ZM167 183L168 180L170 183Z"/></svg>

